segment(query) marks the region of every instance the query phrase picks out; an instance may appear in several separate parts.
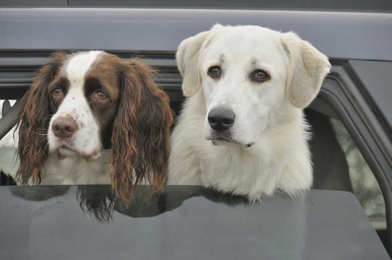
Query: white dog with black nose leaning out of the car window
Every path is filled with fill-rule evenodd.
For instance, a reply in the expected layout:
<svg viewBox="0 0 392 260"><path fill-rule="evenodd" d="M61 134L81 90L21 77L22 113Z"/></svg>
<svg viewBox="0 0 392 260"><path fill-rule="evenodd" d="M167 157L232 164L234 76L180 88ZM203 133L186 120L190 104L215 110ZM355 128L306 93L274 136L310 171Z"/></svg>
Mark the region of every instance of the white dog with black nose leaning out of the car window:
<svg viewBox="0 0 392 260"><path fill-rule="evenodd" d="M171 136L168 184L250 201L311 187L303 108L329 72L325 55L293 32L220 24L176 55L189 98Z"/></svg>

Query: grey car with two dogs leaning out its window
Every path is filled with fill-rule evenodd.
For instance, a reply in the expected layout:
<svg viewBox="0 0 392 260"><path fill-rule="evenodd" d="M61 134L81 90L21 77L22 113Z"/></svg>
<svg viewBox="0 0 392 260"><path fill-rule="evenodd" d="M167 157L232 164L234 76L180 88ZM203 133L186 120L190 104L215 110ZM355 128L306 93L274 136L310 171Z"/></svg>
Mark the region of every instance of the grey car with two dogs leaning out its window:
<svg viewBox="0 0 392 260"><path fill-rule="evenodd" d="M145 245L143 251L137 251L137 256L145 253L145 256L157 257L159 255L146 252L158 252L157 247L162 247L159 252L166 250L166 258L181 258L191 253L195 258L234 258L239 254L252 257L257 253L290 258L291 247L301 248L308 258L316 258L315 255L326 259L339 256L359 258L359 253L365 251L369 255L363 256L380 254L388 257L387 251L380 247L380 240L391 254L392 105L389 99L392 90L389 88L389 74L392 71L392 5L388 1L352 5L346 0L328 4L321 1L251 3L245 0L225 1L223 5L221 1L170 0L165 4L151 1L147 5L144 1L58 0L48 6L45 2L26 3L21 0L2 1L0 7L0 99L16 100L12 101L15 102L13 106L4 102L0 119L2 185L12 184L7 175L15 170L11 163L14 143L9 141L11 134L7 133L16 123L19 100L31 85L35 71L49 60L50 53L55 50L101 49L123 59L138 56L161 71L155 80L169 95L176 114L184 101L182 78L175 63L176 49L182 40L208 30L216 23L253 24L283 32L294 31L327 55L332 64L331 73L324 80L317 99L305 111L313 132L310 145L315 181L314 190L309 193L294 199L276 194L261 204L247 205L241 197L202 187L167 187L167 192L150 202L145 202L143 194L140 195L134 208L126 209L123 205L117 206L119 202L111 197L110 187L0 187L3 194L1 214L5 219L0 230L6 234L2 241L8 239L6 245L9 247L9 250L1 250L2 258L7 258L8 254L26 258L27 251L32 258L51 258L61 253L64 258L76 257L77 254L93 258L85 254L89 252L87 249L99 250L100 247L92 245L94 243L108 243L114 248L110 250L111 254L121 257L125 252L139 250L126 246L138 239L147 239L146 243L154 247ZM351 194L355 194L356 198ZM361 212L357 199L366 215ZM317 210L312 211L315 205L318 205ZM87 220L80 218L82 209L91 214L90 220L88 214L85 216ZM265 211L270 209L271 213L265 215ZM68 211L71 213L62 214ZM226 219L231 213L238 214L238 219ZM47 218L38 219L45 214ZM138 218L138 221L120 220L120 215L132 220ZM252 229L259 222L247 220L250 215L265 216L269 220L265 224L261 222L259 230ZM289 217L279 219L281 215ZM315 216L323 221L328 218L333 221L316 223ZM356 216L358 218L354 219ZM6 222L10 221L13 221L12 229L7 227ZM123 225L116 226L114 230L126 231L126 225L130 225L129 232L140 236L132 234L127 237L126 232L122 232L116 237L115 232L105 226L114 226L116 221ZM142 225L143 221L148 225ZM214 233L214 225L220 221L227 227L233 225L230 232L223 233L223 227L217 227L218 231ZM330 226L339 221L342 225ZM177 227L176 223L184 226ZM378 237L374 236L369 223ZM280 224L282 229L272 228ZM45 232L43 228L46 225L50 229ZM245 231L253 240L246 240L245 233L240 233L245 232L243 225L250 227ZM69 232L60 236L55 231L57 226L58 230ZM324 237L317 236L318 228ZM98 235L96 230L99 229L102 232ZM160 232L150 229L159 229ZM178 237L172 229L178 231ZM204 229L210 232L202 232ZM16 232L18 230L20 232ZM363 230L366 234L361 233ZM337 232L336 236L329 233L332 231ZM350 236L345 237L339 231L350 233ZM191 235L195 238L196 245L193 246L197 254L192 250L192 240L184 238ZM234 243L229 238L236 235L245 239L240 243L243 251L237 247L240 240ZM295 235L307 238L297 241ZM31 236L30 240L28 236ZM78 238L74 241L78 243L70 243L76 236ZM364 240L365 236L368 240ZM54 244L38 244L40 237L45 243L50 244L53 240ZM92 241L91 237L98 240ZM157 240L152 243L153 237ZM217 242L222 237L222 243ZM175 239L170 242L166 238ZM16 246L21 239L24 239L22 244L26 248ZM120 239L127 242L118 244ZM181 247L174 246L181 239L184 239ZM201 243L204 239L207 242ZM250 242L257 239L263 241L263 245L270 243L271 247ZM345 243L347 239L354 245ZM81 244L86 246L85 249L80 247ZM323 246L320 247L320 244ZM136 245L142 246L139 242ZM40 252L39 247L45 248L47 255ZM212 250L211 257L208 257L210 252L203 248ZM23 254L17 255L17 250ZM344 255L342 250L351 255ZM291 252L299 256L299 251ZM329 257L321 255L324 253Z"/></svg>

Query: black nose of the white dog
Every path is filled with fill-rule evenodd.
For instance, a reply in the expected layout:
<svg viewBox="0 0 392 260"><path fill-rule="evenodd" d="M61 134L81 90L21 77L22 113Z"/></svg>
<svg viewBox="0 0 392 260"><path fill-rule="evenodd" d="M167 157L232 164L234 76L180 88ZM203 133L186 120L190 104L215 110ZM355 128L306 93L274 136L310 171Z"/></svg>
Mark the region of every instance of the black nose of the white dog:
<svg viewBox="0 0 392 260"><path fill-rule="evenodd" d="M214 108L210 111L210 113L208 113L207 119L212 129L222 132L233 125L236 115L231 109Z"/></svg>

